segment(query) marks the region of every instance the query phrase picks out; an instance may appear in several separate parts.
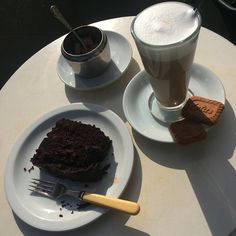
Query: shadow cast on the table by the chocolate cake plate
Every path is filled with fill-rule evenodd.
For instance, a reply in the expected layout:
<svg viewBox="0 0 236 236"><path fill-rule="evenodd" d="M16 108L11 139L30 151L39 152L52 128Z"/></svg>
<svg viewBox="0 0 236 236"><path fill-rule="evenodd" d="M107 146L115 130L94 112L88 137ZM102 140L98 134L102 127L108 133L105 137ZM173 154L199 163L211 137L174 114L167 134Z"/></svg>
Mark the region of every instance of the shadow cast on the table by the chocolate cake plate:
<svg viewBox="0 0 236 236"><path fill-rule="evenodd" d="M129 183L122 194L123 199L128 199L131 201L138 202L140 190L141 190L141 183L142 183L142 167L140 158L138 156L138 152L135 149L134 155L134 166L133 172L131 174ZM142 206L141 206L142 211ZM120 236L120 235L127 235L127 236L148 236L149 234L140 231L138 229L126 226L126 222L130 217L139 217L137 216L130 216L125 213L121 213L118 211L108 211L106 214L101 216L99 219L90 223L84 227L79 229L75 229L72 231L66 232L47 232L43 230L36 229L26 223L24 223L18 216L14 213L15 221L21 230L22 234L25 236L53 236L53 235L66 235L66 236L77 236L77 235L96 235L96 236L104 236L104 235L113 235L113 236Z"/></svg>

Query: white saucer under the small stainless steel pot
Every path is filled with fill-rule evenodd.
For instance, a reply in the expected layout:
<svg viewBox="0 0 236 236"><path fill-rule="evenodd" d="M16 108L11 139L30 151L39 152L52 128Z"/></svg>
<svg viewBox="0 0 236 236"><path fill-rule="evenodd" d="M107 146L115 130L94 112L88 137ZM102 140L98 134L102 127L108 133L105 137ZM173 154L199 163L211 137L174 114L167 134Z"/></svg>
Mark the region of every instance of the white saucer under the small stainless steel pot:
<svg viewBox="0 0 236 236"><path fill-rule="evenodd" d="M132 58L132 48L122 35L105 31L111 51L111 63L103 74L94 78L82 78L74 74L69 64L61 55L57 63L57 73L60 79L69 87L87 91L107 86L118 80L128 68Z"/></svg>

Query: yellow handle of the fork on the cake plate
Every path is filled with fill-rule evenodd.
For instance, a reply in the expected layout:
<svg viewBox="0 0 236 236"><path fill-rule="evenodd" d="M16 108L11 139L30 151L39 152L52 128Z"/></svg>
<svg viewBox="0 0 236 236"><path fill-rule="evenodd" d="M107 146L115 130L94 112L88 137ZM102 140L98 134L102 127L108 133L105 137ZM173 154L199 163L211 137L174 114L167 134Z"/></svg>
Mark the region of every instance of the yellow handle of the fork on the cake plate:
<svg viewBox="0 0 236 236"><path fill-rule="evenodd" d="M112 198L101 194L85 192L81 198L85 202L123 211L131 215L137 215L140 211L140 206L136 202Z"/></svg>

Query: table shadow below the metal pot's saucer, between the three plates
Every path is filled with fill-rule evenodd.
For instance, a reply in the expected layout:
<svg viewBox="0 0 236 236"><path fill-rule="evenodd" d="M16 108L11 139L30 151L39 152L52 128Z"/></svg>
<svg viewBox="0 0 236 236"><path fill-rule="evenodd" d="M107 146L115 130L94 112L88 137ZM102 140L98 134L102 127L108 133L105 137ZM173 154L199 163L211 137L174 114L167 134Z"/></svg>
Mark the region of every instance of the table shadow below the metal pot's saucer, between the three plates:
<svg viewBox="0 0 236 236"><path fill-rule="evenodd" d="M126 121L123 108L122 98L125 88L134 75L140 71L140 67L135 59L132 58L131 63L126 72L113 84L104 88L92 91L78 91L76 89L65 86L65 93L70 103L87 102L94 103L111 109L118 114L123 121ZM113 100L111 104L111 100Z"/></svg>

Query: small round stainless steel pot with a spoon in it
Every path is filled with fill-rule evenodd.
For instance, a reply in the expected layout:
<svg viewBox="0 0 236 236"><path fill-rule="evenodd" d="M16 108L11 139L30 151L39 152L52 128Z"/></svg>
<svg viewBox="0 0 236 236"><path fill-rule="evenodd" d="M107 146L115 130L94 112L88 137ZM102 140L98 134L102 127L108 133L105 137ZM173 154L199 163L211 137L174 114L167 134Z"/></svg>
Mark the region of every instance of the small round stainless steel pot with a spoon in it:
<svg viewBox="0 0 236 236"><path fill-rule="evenodd" d="M93 78L100 75L111 61L105 32L94 26L81 26L76 28L75 32L84 46L70 32L62 42L62 55L78 76Z"/></svg>

